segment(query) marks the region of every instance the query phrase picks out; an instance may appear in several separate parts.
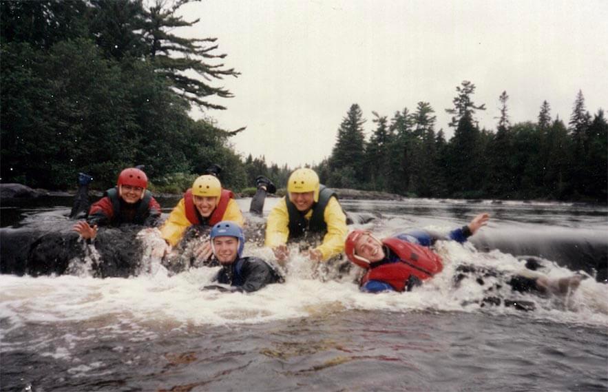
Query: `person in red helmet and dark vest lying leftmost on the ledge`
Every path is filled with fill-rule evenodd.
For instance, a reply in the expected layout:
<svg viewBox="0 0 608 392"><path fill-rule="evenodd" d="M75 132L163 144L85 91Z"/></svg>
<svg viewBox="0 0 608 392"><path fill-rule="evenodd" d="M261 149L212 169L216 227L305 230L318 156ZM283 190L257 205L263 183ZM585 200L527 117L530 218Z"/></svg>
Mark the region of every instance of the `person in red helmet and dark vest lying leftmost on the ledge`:
<svg viewBox="0 0 608 392"><path fill-rule="evenodd" d="M135 167L120 172L116 187L107 189L103 198L93 203L87 220L74 225L83 238L95 238L98 226L143 225L154 227L160 219L160 205L147 190L146 174Z"/></svg>

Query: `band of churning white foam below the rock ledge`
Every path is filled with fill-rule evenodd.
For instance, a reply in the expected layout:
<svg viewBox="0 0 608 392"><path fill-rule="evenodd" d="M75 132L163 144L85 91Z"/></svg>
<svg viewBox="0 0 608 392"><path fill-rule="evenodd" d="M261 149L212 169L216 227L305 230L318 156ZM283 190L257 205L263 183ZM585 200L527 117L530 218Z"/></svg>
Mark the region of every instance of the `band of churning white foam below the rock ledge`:
<svg viewBox="0 0 608 392"><path fill-rule="evenodd" d="M380 236L392 234L403 227L402 220L389 221ZM445 227L428 227L443 229ZM151 242L152 244L154 241ZM338 313L346 309L374 311L491 311L513 313L508 307L481 307L487 296L484 289L473 279L463 280L454 287L453 277L459 262L492 267L505 274L523 271L523 262L499 251L478 252L470 244L440 242L437 251L445 260L441 274L409 293L361 293L355 284L359 271L342 281L322 282L313 278L310 262L297 254L289 260L289 273L282 285L269 285L256 293L222 293L201 290L211 284L218 267L191 269L176 276L169 276L154 258L152 245L146 247L144 259L149 267L146 273L134 278L97 279L84 276L86 268L74 269L78 276L0 276L0 318L9 320L4 332L29 323L86 322L99 333L120 331L147 331L189 329L203 325L229 325L260 323L307 316ZM271 258L271 251L248 245L246 254ZM294 252L295 253L295 252ZM81 264L94 262L80 260ZM543 274L549 278L571 276L572 271L547 262ZM534 274L528 271L527 274ZM608 287L593 279L584 280L579 289L566 298L539 298L514 293L503 285L506 298L532 300L536 311L529 314L557 322L608 325ZM73 339L74 337L72 337ZM67 338L66 338L67 339ZM70 342L66 340L69 350ZM8 347L5 347L8 348ZM58 347L47 355L65 355Z"/></svg>

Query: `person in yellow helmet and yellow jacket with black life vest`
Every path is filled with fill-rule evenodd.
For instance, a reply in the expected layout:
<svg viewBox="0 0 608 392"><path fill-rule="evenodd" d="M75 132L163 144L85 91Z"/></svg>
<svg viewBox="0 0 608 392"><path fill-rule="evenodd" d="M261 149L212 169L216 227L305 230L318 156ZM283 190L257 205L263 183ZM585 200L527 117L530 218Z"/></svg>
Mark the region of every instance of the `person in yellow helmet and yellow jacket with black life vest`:
<svg viewBox="0 0 608 392"><path fill-rule="evenodd" d="M289 256L286 244L306 238L308 233L321 234L321 245L308 251L311 260L326 261L344 251L346 215L332 189L319 184L311 169L297 169L289 176L287 196L279 200L266 220L267 247L273 248L277 260Z"/></svg>

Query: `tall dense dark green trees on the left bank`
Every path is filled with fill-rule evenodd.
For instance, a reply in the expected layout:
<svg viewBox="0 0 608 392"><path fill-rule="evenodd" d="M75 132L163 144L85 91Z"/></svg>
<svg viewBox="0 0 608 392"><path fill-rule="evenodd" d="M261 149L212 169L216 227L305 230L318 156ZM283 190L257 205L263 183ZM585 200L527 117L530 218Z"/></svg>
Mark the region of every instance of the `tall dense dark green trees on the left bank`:
<svg viewBox="0 0 608 392"><path fill-rule="evenodd" d="M224 109L215 82L238 72L215 38L174 34L198 22L178 16L187 2L1 1L1 180L62 189L87 172L105 189L143 164L178 191L219 163L227 186L251 184L228 143L240 130L188 114Z"/></svg>

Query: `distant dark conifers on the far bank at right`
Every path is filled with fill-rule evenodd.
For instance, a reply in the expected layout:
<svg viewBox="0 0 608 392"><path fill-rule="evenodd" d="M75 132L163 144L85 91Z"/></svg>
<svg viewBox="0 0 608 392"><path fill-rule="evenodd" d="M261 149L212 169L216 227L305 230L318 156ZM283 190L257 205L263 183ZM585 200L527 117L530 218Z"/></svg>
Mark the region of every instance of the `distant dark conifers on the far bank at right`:
<svg viewBox="0 0 608 392"><path fill-rule="evenodd" d="M578 92L566 125L552 119L547 101L536 121L511 124L503 92L496 130L479 128L485 110L472 95L475 85L457 87L445 140L435 131L437 116L428 102L388 119L373 113L375 130L364 135L361 107L351 105L337 132L331 156L317 165L333 187L393 192L417 197L587 200L606 203L608 123L600 109L591 116Z"/></svg>

